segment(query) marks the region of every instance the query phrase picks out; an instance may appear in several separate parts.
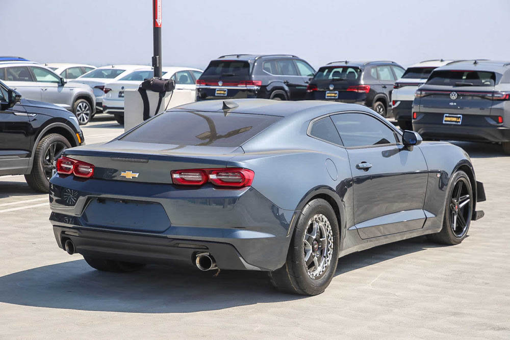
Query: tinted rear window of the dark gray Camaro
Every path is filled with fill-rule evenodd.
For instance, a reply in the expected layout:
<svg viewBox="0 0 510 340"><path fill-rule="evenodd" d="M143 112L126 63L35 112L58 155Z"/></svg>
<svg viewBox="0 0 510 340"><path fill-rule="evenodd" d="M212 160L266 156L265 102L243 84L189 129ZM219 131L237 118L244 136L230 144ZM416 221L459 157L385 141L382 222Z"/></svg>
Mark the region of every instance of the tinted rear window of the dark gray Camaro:
<svg viewBox="0 0 510 340"><path fill-rule="evenodd" d="M201 146L240 146L282 117L223 112L166 112L122 138L124 141Z"/></svg>

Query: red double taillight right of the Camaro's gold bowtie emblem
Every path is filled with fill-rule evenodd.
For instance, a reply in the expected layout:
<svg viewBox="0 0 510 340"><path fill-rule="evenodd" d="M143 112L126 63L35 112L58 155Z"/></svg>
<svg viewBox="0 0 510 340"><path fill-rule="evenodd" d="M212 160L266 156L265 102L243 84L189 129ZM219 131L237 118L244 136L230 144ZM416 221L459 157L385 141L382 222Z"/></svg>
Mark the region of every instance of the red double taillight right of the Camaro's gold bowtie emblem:
<svg viewBox="0 0 510 340"><path fill-rule="evenodd" d="M249 169L186 169L172 170L173 184L186 186L201 186L208 181L219 187L249 187L253 181L254 172Z"/></svg>

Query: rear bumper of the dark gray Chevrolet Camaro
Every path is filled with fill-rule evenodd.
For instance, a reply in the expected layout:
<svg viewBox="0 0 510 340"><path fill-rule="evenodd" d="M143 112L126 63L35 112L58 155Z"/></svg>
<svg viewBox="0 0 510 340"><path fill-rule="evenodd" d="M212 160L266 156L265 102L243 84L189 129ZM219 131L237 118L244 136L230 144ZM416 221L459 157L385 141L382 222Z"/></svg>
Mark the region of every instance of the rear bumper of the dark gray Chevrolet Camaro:
<svg viewBox="0 0 510 340"><path fill-rule="evenodd" d="M81 254L137 263L190 261L207 251L220 269L275 270L285 262L298 214L282 210L253 188L182 190L171 184L58 175L50 183L49 219L59 247L62 238L69 238ZM105 212L98 198L106 200ZM159 205L160 211L147 210L153 216L143 209L131 211L145 203ZM165 221L155 223L154 216Z"/></svg>

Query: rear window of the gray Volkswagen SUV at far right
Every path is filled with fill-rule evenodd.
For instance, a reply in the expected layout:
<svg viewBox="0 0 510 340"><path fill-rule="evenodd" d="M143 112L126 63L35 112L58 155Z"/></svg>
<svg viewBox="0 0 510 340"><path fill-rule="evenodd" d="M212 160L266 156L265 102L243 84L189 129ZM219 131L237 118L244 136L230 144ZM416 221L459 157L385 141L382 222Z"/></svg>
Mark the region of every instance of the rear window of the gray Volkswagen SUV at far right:
<svg viewBox="0 0 510 340"><path fill-rule="evenodd" d="M433 71L426 84L447 86L494 86L496 74L486 71Z"/></svg>

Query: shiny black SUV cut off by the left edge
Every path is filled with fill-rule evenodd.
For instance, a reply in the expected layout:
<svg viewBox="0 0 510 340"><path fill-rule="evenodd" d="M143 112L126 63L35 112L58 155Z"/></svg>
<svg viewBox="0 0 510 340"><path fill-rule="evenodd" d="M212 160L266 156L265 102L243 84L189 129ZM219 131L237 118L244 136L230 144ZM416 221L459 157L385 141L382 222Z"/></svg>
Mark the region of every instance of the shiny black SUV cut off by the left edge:
<svg viewBox="0 0 510 340"><path fill-rule="evenodd" d="M32 189L48 192L62 152L83 144L78 119L71 112L22 99L0 82L0 175L24 174Z"/></svg>

